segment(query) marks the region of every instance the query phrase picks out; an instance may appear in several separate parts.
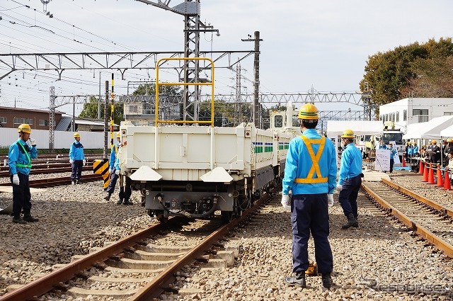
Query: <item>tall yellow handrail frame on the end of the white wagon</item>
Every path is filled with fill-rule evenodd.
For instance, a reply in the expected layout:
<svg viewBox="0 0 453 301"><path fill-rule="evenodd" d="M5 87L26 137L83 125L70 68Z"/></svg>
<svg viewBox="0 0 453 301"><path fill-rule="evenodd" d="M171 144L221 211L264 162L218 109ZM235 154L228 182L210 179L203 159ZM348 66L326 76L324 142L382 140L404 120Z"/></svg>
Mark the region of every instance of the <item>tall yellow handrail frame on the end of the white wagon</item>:
<svg viewBox="0 0 453 301"><path fill-rule="evenodd" d="M161 61L169 60L184 60L184 61L193 61L193 60L205 60L209 61L211 64L211 82L159 82L159 64ZM211 86L211 120L159 120L159 86ZM214 62L212 59L207 57L167 57L159 59L156 63L156 127L159 126L159 123L205 123L210 124L214 127Z"/></svg>

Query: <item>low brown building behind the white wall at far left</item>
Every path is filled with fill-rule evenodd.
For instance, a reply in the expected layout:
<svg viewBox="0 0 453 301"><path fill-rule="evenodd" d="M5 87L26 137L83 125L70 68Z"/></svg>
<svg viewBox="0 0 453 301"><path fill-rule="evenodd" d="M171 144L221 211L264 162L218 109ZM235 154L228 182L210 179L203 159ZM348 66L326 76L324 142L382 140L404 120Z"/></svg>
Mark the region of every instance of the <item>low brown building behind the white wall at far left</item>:
<svg viewBox="0 0 453 301"><path fill-rule="evenodd" d="M55 112L55 124L62 119L62 114ZM18 127L22 123L35 130L49 130L49 111L0 107L0 127Z"/></svg>

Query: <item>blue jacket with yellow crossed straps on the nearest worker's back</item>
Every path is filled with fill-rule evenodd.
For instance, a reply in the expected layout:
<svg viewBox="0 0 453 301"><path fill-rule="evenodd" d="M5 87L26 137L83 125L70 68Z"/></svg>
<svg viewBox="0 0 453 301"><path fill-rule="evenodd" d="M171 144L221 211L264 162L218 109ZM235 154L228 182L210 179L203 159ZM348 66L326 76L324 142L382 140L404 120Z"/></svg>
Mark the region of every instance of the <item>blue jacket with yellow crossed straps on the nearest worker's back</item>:
<svg viewBox="0 0 453 301"><path fill-rule="evenodd" d="M314 129L305 130L302 136L308 140L321 140L321 136ZM320 144L311 144L314 155L317 154ZM325 140L324 149L317 164L319 171L309 177L309 171L314 166L314 162L309 154L309 149L306 146L302 137L295 137L289 142L289 149L286 157L285 164L285 177L282 183L282 193L289 194L292 191L293 195L296 194L320 194L320 193L333 193L336 186L336 157L335 146L329 139ZM297 179L306 179L310 181L316 178L326 178L326 181L321 183L297 183Z"/></svg>

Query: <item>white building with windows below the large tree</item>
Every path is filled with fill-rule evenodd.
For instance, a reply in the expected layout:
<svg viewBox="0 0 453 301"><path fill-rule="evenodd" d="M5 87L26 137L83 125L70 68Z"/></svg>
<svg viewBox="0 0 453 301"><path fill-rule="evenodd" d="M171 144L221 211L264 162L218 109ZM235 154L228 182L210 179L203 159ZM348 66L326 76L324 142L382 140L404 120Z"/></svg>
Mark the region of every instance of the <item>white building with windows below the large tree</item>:
<svg viewBox="0 0 453 301"><path fill-rule="evenodd" d="M453 98L404 98L379 106L379 120L393 121L402 132L407 125L444 115L453 115Z"/></svg>

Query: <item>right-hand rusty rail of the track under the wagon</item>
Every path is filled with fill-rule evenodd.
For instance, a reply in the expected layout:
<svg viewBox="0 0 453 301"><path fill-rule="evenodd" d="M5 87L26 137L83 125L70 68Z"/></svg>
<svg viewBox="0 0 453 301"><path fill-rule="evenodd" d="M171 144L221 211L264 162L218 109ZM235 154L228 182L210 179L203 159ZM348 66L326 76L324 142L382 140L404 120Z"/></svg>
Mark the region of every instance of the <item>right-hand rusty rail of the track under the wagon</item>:
<svg viewBox="0 0 453 301"><path fill-rule="evenodd" d="M179 271L181 268L183 268L183 266L192 263L198 256L205 254L205 252L209 250L226 233L228 233L231 229L234 229L234 227L236 227L236 225L238 225L241 221L253 215L253 213L256 212L256 210L260 208L261 205L269 200L269 198L269 194L264 195L263 198L260 198L260 200L258 200L252 208L243 211L240 217L231 220L229 224L220 227L208 237L203 239L203 241L200 242L200 244L198 244L194 249L190 250L187 254L172 263L171 266L168 266L168 268L160 273L159 276L157 276L156 278L154 278L154 280L141 288L128 300L149 301L151 300L151 298L155 298L161 295L161 293L164 292L164 288L175 281L176 278L174 275L176 271Z"/></svg>

